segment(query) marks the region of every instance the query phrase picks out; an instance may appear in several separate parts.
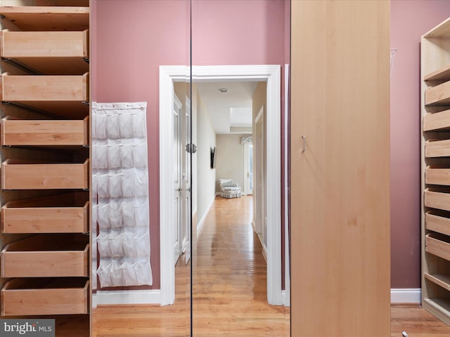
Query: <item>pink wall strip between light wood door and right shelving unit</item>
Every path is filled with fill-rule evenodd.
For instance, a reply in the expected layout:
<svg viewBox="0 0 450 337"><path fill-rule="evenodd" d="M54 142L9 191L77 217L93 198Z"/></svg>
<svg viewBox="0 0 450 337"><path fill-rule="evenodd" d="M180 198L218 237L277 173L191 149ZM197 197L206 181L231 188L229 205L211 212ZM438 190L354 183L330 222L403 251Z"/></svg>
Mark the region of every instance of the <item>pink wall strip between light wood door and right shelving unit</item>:
<svg viewBox="0 0 450 337"><path fill-rule="evenodd" d="M392 288L420 288L420 36L450 16L450 1L392 0Z"/></svg>

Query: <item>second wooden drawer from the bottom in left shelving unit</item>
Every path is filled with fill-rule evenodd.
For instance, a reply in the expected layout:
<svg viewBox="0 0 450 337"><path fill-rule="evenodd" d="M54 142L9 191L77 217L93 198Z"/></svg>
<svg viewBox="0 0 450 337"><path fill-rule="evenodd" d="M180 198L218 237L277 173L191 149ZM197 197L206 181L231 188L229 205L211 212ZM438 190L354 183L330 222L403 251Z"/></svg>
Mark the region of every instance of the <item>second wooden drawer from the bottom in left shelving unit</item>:
<svg viewBox="0 0 450 337"><path fill-rule="evenodd" d="M7 244L1 251L1 277L88 276L89 244L75 238L40 234Z"/></svg>

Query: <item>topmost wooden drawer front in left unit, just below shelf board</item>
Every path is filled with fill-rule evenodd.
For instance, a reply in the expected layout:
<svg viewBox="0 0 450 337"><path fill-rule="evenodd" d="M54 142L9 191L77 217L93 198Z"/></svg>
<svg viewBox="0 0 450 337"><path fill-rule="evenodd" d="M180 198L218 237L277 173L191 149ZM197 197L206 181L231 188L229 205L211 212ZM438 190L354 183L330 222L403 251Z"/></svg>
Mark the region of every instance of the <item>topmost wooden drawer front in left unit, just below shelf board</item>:
<svg viewBox="0 0 450 337"><path fill-rule="evenodd" d="M2 58L89 57L88 31L1 32Z"/></svg>

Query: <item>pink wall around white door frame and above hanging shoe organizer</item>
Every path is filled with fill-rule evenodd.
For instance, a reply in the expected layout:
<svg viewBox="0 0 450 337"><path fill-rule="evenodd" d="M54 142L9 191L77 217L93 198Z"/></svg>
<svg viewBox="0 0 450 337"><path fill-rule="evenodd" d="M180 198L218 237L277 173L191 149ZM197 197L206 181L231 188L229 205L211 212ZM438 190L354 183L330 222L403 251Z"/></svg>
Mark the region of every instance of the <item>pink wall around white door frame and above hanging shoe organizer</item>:
<svg viewBox="0 0 450 337"><path fill-rule="evenodd" d="M188 4L101 0L92 6L93 100L148 102L151 262L158 289L158 73L160 65L188 65ZM192 6L194 65L284 65L285 0L193 0Z"/></svg>

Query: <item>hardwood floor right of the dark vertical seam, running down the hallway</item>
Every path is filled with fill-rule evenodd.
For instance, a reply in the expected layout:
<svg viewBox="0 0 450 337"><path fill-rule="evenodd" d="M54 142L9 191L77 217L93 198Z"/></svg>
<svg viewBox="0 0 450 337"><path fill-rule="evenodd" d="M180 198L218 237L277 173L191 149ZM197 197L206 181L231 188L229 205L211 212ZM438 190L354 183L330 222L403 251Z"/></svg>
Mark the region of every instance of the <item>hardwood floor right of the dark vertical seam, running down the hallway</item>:
<svg viewBox="0 0 450 337"><path fill-rule="evenodd" d="M289 336L289 308L267 304L252 197L216 197L193 258L194 336Z"/></svg>

